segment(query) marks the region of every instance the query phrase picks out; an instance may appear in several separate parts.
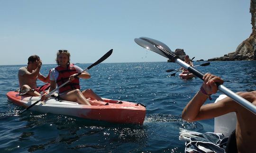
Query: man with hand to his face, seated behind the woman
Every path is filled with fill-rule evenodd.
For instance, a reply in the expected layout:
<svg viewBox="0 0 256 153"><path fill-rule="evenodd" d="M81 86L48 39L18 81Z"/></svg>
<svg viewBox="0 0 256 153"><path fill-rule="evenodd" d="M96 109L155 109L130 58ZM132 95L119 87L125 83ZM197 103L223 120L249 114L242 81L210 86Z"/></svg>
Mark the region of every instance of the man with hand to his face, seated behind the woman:
<svg viewBox="0 0 256 153"><path fill-rule="evenodd" d="M42 66L42 61L39 56L32 55L27 60L27 67L18 69L20 93L27 93L32 96L41 96L40 92L49 88L50 85L46 84L41 87L37 87L37 78L47 83L49 82L49 74L45 77L39 72Z"/></svg>

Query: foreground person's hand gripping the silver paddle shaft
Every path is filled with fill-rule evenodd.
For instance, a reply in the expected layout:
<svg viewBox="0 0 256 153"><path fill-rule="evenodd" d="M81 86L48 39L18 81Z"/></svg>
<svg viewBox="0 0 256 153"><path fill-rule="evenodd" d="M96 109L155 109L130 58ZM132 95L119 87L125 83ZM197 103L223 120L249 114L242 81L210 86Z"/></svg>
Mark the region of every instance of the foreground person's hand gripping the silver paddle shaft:
<svg viewBox="0 0 256 153"><path fill-rule="evenodd" d="M203 76L203 79L204 82L202 84L202 87L207 94L217 93L218 87L216 83L218 83L219 85L222 85L224 83L224 81L219 76L214 76L210 73L206 73Z"/></svg>

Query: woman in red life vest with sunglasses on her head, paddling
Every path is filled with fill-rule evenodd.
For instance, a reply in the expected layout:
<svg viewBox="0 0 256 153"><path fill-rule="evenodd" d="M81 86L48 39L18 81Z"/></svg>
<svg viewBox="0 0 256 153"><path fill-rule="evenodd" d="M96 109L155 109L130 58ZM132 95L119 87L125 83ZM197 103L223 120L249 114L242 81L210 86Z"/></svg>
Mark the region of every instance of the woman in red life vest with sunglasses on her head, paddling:
<svg viewBox="0 0 256 153"><path fill-rule="evenodd" d="M70 53L67 50L59 50L57 52L56 62L58 67L53 68L50 72L50 92L56 88L56 84L60 86L70 79L71 82L59 89L61 99L85 105L91 105L86 98L103 101L91 89L80 91L79 78L88 79L91 75L88 72L83 72L79 78L74 77L82 72L82 68L70 63Z"/></svg>

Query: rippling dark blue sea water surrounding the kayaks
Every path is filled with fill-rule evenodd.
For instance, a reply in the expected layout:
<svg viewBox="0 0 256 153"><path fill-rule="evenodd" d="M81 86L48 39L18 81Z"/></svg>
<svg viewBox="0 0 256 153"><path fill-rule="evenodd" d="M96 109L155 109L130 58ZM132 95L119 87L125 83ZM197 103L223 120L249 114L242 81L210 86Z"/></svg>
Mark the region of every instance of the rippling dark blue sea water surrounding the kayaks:
<svg viewBox="0 0 256 153"><path fill-rule="evenodd" d="M194 62L194 65L204 61ZM91 64L77 64L87 68ZM43 65L47 75L56 65ZM180 79L176 63L102 63L81 80L82 89L91 88L101 97L141 102L146 105L142 126L113 124L65 115L42 114L11 103L6 93L18 88L18 68L0 66L0 152L1 153L183 153L179 127L198 132L213 132L214 120L188 123L181 119L184 106L201 86L201 79ZM256 90L256 61L213 61L196 67L202 73L221 76L234 92ZM41 81L37 85L43 85ZM220 95L212 95L214 102Z"/></svg>

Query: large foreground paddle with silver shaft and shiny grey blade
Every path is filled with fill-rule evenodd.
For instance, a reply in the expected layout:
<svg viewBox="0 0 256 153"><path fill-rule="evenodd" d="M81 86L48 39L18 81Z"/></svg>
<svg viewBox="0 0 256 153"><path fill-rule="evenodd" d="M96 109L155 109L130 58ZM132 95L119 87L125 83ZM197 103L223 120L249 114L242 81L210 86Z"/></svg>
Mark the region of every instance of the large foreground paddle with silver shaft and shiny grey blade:
<svg viewBox="0 0 256 153"><path fill-rule="evenodd" d="M195 76L201 78L203 80L203 74L199 72L198 70L192 68L189 64L185 63L183 60L178 59L177 56L173 54L173 52L170 50L170 48L163 43L159 42L155 39L147 38L147 37L140 37L135 38L134 41L151 51L154 51L166 58L169 58L172 62L175 62L182 66L183 68L186 68L191 73L193 73ZM238 102L241 106L245 107L247 110L251 111L252 113L256 114L256 106L253 105L251 102L248 102L246 99L242 98L238 94L232 92L228 88L226 88L224 85L218 85L218 90L222 93L226 94L230 98L232 98L235 102Z"/></svg>

